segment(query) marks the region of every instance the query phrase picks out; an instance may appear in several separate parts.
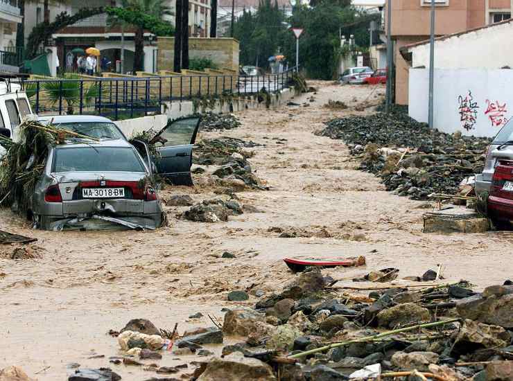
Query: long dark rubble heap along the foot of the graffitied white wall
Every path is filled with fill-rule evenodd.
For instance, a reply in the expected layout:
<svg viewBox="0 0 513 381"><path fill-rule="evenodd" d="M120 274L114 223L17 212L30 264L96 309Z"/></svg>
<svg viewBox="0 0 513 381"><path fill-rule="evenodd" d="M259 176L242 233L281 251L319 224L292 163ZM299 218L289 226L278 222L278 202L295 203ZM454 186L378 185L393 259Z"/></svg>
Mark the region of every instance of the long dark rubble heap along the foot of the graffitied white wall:
<svg viewBox="0 0 513 381"><path fill-rule="evenodd" d="M387 190L414 200L456 193L461 181L482 171L490 139L430 130L403 109L329 121L317 134L342 139L361 159L360 169L381 176Z"/></svg>

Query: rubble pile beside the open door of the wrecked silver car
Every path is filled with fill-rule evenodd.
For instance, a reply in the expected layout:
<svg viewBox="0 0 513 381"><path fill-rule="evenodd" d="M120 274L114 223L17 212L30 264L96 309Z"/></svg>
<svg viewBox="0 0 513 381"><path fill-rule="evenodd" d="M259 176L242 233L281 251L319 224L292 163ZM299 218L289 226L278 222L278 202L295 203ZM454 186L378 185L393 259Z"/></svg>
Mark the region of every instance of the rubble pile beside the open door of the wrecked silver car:
<svg viewBox="0 0 513 381"><path fill-rule="evenodd" d="M241 139L220 137L205 139L196 144L193 163L200 166L218 166L213 175L222 179L225 186L234 190L254 188L266 190L260 179L254 175L250 162L251 148L259 144Z"/></svg>

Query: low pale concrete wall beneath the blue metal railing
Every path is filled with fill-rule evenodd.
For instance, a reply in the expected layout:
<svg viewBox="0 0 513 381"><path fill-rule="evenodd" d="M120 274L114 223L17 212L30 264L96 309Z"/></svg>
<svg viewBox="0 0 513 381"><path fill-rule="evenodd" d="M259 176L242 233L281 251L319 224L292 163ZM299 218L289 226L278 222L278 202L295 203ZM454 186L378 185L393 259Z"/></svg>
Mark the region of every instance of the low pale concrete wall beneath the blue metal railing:
<svg viewBox="0 0 513 381"><path fill-rule="evenodd" d="M280 96L277 98L276 96L272 96L271 107L277 107L279 105L284 105L290 99L294 98L295 92L293 89L284 89L280 92ZM234 112L241 112L245 109L257 109L266 107L263 103L258 103L255 100L234 100L233 103ZM154 116L144 116L142 118L134 118L127 119L125 121L116 121L116 125L119 126L123 134L130 138L132 134L145 131L145 130L161 130L167 123L168 118L176 119L182 116L188 116L193 114L193 103L190 100L184 102L166 102L164 106L164 114L162 115L154 115ZM198 110L201 112L202 110ZM229 112L229 105L224 105L224 107L220 107L217 104L214 109L207 110L216 113L227 113Z"/></svg>

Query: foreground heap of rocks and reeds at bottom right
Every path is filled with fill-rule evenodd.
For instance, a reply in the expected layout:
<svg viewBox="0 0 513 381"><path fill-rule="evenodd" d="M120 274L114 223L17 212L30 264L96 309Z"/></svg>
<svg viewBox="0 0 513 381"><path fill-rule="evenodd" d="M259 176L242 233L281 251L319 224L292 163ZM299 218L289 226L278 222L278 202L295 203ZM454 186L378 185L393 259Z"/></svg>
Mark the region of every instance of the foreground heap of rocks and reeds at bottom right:
<svg viewBox="0 0 513 381"><path fill-rule="evenodd" d="M162 346L174 356L200 357L193 373L182 375L196 380L511 380L512 282L481 293L465 281L421 283L433 273L439 278L428 271L399 280L394 269L387 281L336 287L320 269L308 268L254 308L226 310L222 326L211 319L216 326L180 338L173 332L170 340L164 330L146 329L153 324L143 330L129 324L118 337L127 353L123 364L130 354L137 362ZM244 294L227 300L246 301ZM223 344L225 336L236 344L220 356L203 347Z"/></svg>

